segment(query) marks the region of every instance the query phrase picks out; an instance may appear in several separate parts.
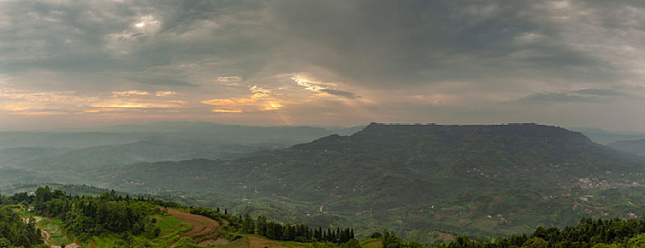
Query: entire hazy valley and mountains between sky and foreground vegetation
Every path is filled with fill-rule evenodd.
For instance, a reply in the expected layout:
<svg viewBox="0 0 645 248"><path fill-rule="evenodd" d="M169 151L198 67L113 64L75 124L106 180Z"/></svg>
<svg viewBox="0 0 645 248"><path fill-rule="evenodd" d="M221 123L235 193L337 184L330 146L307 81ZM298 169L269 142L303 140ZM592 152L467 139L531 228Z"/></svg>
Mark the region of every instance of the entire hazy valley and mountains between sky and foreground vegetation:
<svg viewBox="0 0 645 248"><path fill-rule="evenodd" d="M426 243L632 218L644 204L641 147L614 149L548 125L183 122L2 137L4 194L85 184ZM640 134L630 137L609 145L639 144Z"/></svg>

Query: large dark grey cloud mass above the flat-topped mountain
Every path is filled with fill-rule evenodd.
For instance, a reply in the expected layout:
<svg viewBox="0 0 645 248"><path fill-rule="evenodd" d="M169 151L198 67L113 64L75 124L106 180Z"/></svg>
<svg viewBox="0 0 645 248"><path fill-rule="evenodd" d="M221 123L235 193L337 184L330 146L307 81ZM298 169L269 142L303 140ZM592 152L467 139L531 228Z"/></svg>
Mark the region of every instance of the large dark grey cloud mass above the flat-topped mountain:
<svg viewBox="0 0 645 248"><path fill-rule="evenodd" d="M546 13L535 1L281 1L272 11L282 31L329 49L307 62L364 84L545 71L551 77L611 77L594 69L607 64L564 44L556 27L541 21ZM315 54L311 47L302 52Z"/></svg>

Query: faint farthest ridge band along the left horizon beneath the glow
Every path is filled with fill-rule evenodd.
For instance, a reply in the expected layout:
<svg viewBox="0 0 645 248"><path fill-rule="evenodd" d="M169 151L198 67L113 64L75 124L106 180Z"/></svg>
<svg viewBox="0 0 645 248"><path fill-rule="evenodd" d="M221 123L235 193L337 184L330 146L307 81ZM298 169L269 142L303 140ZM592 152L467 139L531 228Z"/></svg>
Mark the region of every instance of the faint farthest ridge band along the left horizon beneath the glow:
<svg viewBox="0 0 645 248"><path fill-rule="evenodd" d="M339 130L338 132L343 132ZM222 125L206 122L160 122L148 125L115 125L94 129L65 129L34 132L0 132L0 149L13 147L97 147L121 145L151 138L194 139L208 142L297 144L336 131L307 126L263 127Z"/></svg>

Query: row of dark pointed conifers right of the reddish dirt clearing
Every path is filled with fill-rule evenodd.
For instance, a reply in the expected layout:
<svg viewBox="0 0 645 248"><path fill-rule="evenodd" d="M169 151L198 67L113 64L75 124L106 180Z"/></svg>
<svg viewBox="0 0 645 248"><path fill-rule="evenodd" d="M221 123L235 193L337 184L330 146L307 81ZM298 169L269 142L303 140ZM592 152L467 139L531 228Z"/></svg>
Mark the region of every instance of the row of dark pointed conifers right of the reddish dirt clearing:
<svg viewBox="0 0 645 248"><path fill-rule="evenodd" d="M336 228L336 230L328 228L323 230L319 227L313 229L303 224L292 225L273 222L267 220L263 215L254 219L248 214L244 216L229 215L210 208L191 208L190 213L204 215L218 221L226 220L229 222L226 228L231 232L255 234L275 240L344 244L354 238L354 230L350 228Z"/></svg>

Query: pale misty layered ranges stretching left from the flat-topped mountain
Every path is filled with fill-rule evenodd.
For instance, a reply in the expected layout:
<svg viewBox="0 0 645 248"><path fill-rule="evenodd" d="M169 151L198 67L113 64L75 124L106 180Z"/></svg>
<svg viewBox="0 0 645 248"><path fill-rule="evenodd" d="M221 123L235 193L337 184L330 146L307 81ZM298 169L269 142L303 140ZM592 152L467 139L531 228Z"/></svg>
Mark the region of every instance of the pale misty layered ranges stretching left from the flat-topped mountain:
<svg viewBox="0 0 645 248"><path fill-rule="evenodd" d="M353 130L162 122L93 130L6 132L0 133L0 167L46 172L61 167L87 170L136 162L233 159Z"/></svg>

